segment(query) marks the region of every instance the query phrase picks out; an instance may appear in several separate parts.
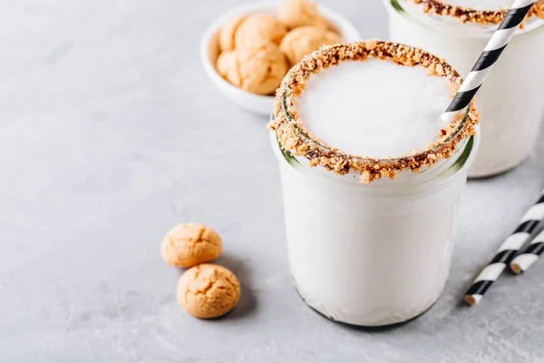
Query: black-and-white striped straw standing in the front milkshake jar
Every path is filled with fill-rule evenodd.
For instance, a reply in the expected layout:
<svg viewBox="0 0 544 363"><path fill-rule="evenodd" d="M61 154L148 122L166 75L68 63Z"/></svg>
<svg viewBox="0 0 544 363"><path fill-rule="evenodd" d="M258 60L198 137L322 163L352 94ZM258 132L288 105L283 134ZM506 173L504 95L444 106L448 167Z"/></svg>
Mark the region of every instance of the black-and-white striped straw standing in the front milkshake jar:
<svg viewBox="0 0 544 363"><path fill-rule="evenodd" d="M502 54L502 51L504 51L504 48L506 48L510 39L518 30L518 27L534 3L535 0L514 1L499 28L491 36L480 58L478 58L478 61L472 67L471 73L467 75L461 84L461 88L455 94L452 103L450 103L446 112L442 114L444 122L451 123L452 120L458 117L462 110L471 104L474 95L478 92L488 74L491 73L494 65L499 60L500 54Z"/></svg>

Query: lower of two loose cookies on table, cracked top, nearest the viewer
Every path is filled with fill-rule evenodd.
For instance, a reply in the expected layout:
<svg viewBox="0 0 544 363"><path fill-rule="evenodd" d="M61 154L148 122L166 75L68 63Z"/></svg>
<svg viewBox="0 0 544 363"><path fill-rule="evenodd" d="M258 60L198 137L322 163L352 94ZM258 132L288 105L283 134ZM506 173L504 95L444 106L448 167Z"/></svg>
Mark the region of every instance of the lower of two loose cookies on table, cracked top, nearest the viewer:
<svg viewBox="0 0 544 363"><path fill-rule="evenodd" d="M190 315L218 318L234 309L240 298L240 283L230 270L214 264L195 266L178 282L178 301Z"/></svg>

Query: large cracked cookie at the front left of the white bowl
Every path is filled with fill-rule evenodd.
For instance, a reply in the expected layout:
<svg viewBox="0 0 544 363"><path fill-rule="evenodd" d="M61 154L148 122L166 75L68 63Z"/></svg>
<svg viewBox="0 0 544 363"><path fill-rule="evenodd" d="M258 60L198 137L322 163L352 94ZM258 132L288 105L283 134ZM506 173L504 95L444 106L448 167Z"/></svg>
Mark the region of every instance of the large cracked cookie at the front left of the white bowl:
<svg viewBox="0 0 544 363"><path fill-rule="evenodd" d="M223 52L217 68L219 74L239 88L270 94L287 74L288 64L285 54L268 42Z"/></svg>

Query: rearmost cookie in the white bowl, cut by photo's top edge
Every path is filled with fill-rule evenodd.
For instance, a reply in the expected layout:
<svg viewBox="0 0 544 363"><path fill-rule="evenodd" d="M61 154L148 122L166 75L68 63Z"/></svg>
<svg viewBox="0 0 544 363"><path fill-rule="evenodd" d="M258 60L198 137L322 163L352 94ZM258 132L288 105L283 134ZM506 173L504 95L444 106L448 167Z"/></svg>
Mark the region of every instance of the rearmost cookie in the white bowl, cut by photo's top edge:
<svg viewBox="0 0 544 363"><path fill-rule="evenodd" d="M304 0L286 0L279 8L279 20L289 29L298 26L328 28L328 23L317 11L317 3Z"/></svg>

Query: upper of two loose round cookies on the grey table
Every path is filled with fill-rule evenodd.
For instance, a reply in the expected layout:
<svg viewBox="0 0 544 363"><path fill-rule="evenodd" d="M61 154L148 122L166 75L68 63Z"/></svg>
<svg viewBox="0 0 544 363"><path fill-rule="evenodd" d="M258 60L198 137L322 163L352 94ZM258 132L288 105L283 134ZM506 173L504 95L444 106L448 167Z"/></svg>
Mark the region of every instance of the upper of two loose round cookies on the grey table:
<svg viewBox="0 0 544 363"><path fill-rule="evenodd" d="M199 223L180 224L170 230L160 246L160 255L169 265L191 267L216 260L223 244L219 234Z"/></svg>

